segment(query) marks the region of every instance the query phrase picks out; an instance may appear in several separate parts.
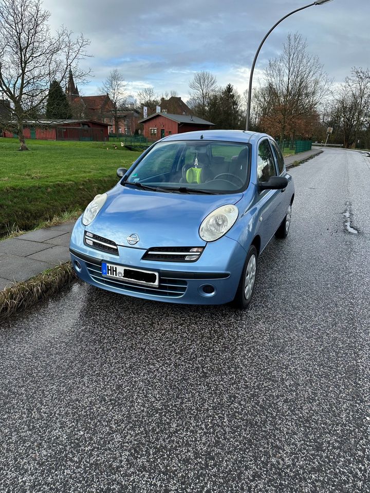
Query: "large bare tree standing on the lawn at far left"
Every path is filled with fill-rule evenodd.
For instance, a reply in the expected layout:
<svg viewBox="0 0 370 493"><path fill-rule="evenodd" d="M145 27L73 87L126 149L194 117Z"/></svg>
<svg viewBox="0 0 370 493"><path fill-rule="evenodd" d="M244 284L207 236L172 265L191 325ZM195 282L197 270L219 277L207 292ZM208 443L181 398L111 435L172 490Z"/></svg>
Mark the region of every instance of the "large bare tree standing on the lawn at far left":
<svg viewBox="0 0 370 493"><path fill-rule="evenodd" d="M20 150L28 150L24 125L45 107L51 82L64 86L70 68L79 81L89 73L78 62L90 42L64 27L52 35L49 17L41 0L0 0L0 91L11 102Z"/></svg>

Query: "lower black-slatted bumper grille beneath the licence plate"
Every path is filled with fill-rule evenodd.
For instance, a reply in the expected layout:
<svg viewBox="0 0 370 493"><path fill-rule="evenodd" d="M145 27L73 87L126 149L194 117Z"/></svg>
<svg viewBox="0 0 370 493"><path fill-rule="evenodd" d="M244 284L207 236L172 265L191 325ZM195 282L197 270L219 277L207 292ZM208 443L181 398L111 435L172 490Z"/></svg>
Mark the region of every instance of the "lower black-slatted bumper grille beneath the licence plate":
<svg viewBox="0 0 370 493"><path fill-rule="evenodd" d="M162 296L165 298L179 298L182 296L188 287L188 282L184 279L175 279L171 277L159 277L158 288L140 286L132 284L127 281L121 281L120 279L110 279L104 277L101 273L100 262L97 263L86 262L87 271L95 282L98 282L104 286L110 286L112 288L118 288L122 290L122 293L146 293L155 296Z"/></svg>

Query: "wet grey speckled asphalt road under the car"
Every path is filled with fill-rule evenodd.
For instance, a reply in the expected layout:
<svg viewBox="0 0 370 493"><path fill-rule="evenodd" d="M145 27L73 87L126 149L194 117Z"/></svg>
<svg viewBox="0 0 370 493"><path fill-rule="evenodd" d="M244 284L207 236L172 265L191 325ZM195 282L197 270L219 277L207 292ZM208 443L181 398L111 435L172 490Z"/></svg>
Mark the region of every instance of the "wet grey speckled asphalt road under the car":
<svg viewBox="0 0 370 493"><path fill-rule="evenodd" d="M370 491L370 158L291 174L248 311L76 283L3 324L1 492Z"/></svg>

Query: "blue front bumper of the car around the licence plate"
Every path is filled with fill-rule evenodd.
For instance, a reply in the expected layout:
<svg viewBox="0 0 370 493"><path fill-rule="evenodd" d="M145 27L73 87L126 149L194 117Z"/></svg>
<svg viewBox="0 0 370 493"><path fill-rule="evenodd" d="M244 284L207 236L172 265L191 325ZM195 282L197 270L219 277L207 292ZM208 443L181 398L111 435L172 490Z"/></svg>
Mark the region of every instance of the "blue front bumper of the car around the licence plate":
<svg viewBox="0 0 370 493"><path fill-rule="evenodd" d="M118 246L117 256L90 248L84 244L84 229L79 219L71 236L71 260L77 275L97 288L137 298L190 305L221 305L234 299L246 251L227 236L208 243L194 263L159 262L142 260L146 249ZM148 287L103 277L102 261L157 271L159 286ZM209 288L204 290L205 286L212 286L213 292L207 292Z"/></svg>

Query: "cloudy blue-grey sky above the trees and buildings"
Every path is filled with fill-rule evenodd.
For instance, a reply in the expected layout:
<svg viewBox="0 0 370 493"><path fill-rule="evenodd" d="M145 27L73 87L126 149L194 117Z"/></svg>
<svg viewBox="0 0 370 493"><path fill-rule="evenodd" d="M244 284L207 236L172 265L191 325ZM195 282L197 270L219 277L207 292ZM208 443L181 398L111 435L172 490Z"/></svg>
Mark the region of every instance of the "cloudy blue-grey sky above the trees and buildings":
<svg viewBox="0 0 370 493"><path fill-rule="evenodd" d="M313 1L313 0L312 0ZM86 96L115 68L129 93L153 86L159 94L171 90L186 101L195 72L208 70L221 86L241 93L248 86L256 49L272 25L307 0L44 0L52 29L64 25L83 33L91 44ZM340 83L353 66L370 66L370 0L332 0L284 20L268 37L253 76L262 81L268 60L280 55L289 32L307 40L308 52L318 55L330 78Z"/></svg>

